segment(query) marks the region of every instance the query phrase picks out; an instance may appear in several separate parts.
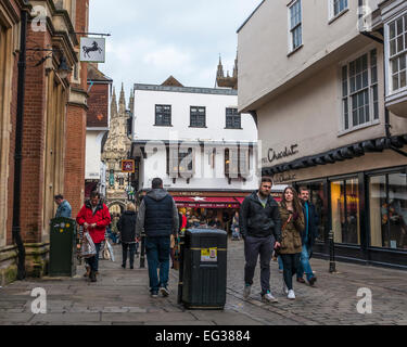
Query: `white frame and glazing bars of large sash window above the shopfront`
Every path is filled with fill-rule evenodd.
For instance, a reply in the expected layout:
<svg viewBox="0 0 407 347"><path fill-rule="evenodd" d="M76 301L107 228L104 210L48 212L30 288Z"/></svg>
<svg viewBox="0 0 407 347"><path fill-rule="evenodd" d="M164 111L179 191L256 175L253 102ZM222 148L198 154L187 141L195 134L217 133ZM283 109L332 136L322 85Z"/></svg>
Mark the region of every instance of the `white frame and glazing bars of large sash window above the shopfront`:
<svg viewBox="0 0 407 347"><path fill-rule="evenodd" d="M376 52L376 64L372 65L372 57L373 52ZM367 55L367 68L361 69L361 72L355 72L355 75L351 75L351 64L357 63L358 60L363 60L363 57ZM346 79L344 79L344 69L346 68ZM356 66L355 66L356 69ZM367 73L367 79L368 85L367 87L364 87L364 73ZM361 87L357 89L357 76L361 74ZM376 77L373 80L373 76ZM351 88L351 79L352 77L355 78L355 90L352 91ZM346 61L341 62L340 64L340 73L339 73L339 79L340 79L340 113L341 113L341 123L340 127L341 130L339 131L339 136L364 129L366 127L370 127L373 125L380 124L380 98L379 98L379 65L378 65L378 49L374 46L369 46L367 49L365 49L361 52L358 52L357 54L354 54ZM346 94L344 93L345 87L344 82L346 82ZM366 119L366 105L368 105L369 110L369 120L359 123L360 119L358 119L357 125L354 125L353 123L353 97L359 98L359 94L363 94L363 99L365 101L365 92L368 92L369 102L368 104L365 104L365 119ZM359 100L358 100L359 101ZM346 111L347 105L347 112ZM357 107L357 112L360 108ZM357 114L357 117L359 118L359 114ZM346 119L347 118L347 119Z"/></svg>

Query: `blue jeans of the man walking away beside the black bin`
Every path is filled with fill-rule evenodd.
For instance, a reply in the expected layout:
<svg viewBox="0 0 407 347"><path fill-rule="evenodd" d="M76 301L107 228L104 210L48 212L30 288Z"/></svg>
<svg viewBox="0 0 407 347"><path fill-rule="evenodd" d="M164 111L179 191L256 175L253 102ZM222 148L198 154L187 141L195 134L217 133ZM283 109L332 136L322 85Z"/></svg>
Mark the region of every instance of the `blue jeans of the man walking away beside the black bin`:
<svg viewBox="0 0 407 347"><path fill-rule="evenodd" d="M169 236L147 237L145 254L149 264L151 293L157 293L160 287L167 286L169 273ZM160 266L160 282L157 268Z"/></svg>

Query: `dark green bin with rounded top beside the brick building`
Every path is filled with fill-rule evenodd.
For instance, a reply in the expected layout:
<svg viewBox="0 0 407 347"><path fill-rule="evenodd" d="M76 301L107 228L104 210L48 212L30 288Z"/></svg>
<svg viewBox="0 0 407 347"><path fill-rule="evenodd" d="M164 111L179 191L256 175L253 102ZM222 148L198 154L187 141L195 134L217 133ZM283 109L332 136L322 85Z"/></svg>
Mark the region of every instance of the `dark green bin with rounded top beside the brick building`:
<svg viewBox="0 0 407 347"><path fill-rule="evenodd" d="M51 219L50 277L76 274L76 221L60 217Z"/></svg>

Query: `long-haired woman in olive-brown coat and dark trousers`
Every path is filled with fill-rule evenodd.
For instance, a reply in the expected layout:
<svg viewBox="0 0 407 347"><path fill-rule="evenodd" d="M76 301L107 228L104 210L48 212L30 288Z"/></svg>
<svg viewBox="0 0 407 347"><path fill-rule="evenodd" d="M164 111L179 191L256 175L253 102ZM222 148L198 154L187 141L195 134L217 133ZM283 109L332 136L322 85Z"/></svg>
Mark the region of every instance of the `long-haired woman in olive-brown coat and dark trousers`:
<svg viewBox="0 0 407 347"><path fill-rule="evenodd" d="M283 262L283 293L289 299L295 299L293 275L300 266L304 215L296 191L292 187L284 189L279 208L282 223L279 253Z"/></svg>

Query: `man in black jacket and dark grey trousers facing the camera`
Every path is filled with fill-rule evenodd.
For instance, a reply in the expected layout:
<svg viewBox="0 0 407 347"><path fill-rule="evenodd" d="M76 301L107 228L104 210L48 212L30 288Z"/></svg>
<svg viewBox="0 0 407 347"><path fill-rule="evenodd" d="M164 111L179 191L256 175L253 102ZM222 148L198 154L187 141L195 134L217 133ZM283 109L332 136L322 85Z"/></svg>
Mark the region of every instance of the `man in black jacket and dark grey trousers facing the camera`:
<svg viewBox="0 0 407 347"><path fill-rule="evenodd" d="M274 246L281 246L281 219L278 204L270 195L271 187L271 179L264 177L259 190L244 198L239 217L246 261L243 296L247 298L251 293L260 255L262 300L266 303L278 301L270 292L270 259Z"/></svg>

